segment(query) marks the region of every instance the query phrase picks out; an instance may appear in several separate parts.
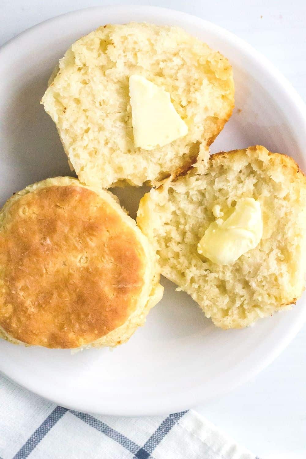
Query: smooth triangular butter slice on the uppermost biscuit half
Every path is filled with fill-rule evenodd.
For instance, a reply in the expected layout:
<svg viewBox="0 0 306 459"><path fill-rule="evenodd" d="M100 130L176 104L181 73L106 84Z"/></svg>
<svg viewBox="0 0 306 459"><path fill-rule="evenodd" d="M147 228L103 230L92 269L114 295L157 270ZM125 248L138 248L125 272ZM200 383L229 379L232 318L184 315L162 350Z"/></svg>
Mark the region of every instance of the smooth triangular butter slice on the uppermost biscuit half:
<svg viewBox="0 0 306 459"><path fill-rule="evenodd" d="M187 134L170 94L140 75L129 79L134 145L153 150Z"/></svg>

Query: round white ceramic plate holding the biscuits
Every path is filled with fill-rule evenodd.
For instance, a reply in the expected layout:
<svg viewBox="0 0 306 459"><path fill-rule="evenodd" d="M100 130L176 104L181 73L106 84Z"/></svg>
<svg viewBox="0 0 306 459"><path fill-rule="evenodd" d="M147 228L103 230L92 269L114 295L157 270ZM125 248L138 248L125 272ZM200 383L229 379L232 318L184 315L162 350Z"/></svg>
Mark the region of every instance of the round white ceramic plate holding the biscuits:
<svg viewBox="0 0 306 459"><path fill-rule="evenodd" d="M0 200L69 174L56 128L39 105L48 77L73 41L106 23L178 25L229 58L236 108L212 152L262 144L306 169L305 108L290 84L249 45L209 22L147 6L107 6L43 22L0 50ZM143 190L119 190L132 216ZM305 296L289 312L245 330L219 330L188 295L163 281L145 327L116 348L71 355L0 341L0 371L33 392L85 412L145 415L200 404L246 381L289 343L306 318ZM277 383L277 381L275 381Z"/></svg>

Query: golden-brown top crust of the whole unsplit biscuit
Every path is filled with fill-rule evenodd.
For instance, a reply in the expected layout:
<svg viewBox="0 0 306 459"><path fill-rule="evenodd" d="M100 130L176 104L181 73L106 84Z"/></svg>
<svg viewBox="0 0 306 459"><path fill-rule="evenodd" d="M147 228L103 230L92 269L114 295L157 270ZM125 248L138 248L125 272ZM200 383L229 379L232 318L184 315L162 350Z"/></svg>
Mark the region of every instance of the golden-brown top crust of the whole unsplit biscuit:
<svg viewBox="0 0 306 459"><path fill-rule="evenodd" d="M2 221L0 326L32 345L86 345L134 312L144 273L143 246L108 202L81 186L40 188Z"/></svg>

